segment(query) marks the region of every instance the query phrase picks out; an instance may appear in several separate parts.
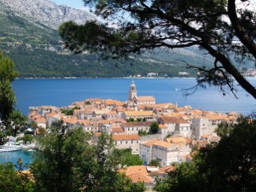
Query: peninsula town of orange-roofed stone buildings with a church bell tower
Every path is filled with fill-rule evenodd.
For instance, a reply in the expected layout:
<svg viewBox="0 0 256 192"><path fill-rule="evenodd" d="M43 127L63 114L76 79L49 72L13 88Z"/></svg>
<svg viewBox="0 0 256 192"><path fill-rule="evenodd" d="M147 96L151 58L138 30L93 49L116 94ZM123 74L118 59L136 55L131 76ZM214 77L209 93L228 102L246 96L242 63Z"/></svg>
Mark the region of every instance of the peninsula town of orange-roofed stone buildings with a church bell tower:
<svg viewBox="0 0 256 192"><path fill-rule="evenodd" d="M132 183L143 182L148 190L153 189L156 177L165 177L173 169L173 163L191 161L193 148L218 142L218 125L235 123L237 118L238 113L157 104L154 96L137 96L134 82L126 102L88 98L65 108L31 107L28 114L28 119L46 130L55 120L62 120L67 129L82 127L94 135L94 143L102 132L112 135L116 148L131 148L144 162L144 166L127 166L120 172L131 177ZM150 131L153 124L158 125L154 134ZM159 160L161 167L148 166L151 160Z"/></svg>

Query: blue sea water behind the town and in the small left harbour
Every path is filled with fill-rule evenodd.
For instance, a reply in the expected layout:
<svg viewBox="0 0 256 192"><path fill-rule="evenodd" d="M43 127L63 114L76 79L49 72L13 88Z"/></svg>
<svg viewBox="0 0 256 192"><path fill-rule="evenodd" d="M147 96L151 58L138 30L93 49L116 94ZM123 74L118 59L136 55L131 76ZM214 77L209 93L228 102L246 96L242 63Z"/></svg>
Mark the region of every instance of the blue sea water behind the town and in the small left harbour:
<svg viewBox="0 0 256 192"><path fill-rule="evenodd" d="M248 78L256 86L256 78ZM156 103L172 102L178 107L191 106L207 111L250 114L256 109L253 96L236 84L236 96L225 94L216 87L198 88L193 94L186 93L196 84L196 79L15 79L13 89L16 108L28 114L29 107L53 105L65 107L72 102L88 98L114 99L125 102L131 82L136 84L137 96L154 96ZM237 97L237 98L236 98ZM21 157L32 160L27 151L0 153L0 162L16 163Z"/></svg>

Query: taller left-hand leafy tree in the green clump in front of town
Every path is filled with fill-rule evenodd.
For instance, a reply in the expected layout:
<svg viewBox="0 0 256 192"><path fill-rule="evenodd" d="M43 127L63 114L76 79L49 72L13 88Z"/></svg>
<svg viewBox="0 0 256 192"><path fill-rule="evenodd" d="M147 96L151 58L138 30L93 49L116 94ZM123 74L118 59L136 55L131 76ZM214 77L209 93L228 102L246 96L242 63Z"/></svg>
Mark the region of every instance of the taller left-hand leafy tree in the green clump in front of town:
<svg viewBox="0 0 256 192"><path fill-rule="evenodd" d="M88 136L79 128L67 131L61 121L53 123L51 132L38 140L38 149L32 162L36 191L78 191L73 189L77 177L73 173L76 160L81 158Z"/></svg>

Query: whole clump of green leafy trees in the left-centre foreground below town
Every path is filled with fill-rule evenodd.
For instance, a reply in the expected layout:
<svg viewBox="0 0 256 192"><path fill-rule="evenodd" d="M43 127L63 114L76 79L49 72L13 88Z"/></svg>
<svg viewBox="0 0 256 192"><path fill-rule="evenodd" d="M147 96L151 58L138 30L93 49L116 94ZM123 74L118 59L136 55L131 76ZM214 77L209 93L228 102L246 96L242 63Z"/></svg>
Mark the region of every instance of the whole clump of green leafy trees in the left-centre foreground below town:
<svg viewBox="0 0 256 192"><path fill-rule="evenodd" d="M89 133L82 128L67 130L60 121L38 142L41 148L31 166L37 192L144 190L117 172L120 156L114 154L113 140L106 134L92 144Z"/></svg>

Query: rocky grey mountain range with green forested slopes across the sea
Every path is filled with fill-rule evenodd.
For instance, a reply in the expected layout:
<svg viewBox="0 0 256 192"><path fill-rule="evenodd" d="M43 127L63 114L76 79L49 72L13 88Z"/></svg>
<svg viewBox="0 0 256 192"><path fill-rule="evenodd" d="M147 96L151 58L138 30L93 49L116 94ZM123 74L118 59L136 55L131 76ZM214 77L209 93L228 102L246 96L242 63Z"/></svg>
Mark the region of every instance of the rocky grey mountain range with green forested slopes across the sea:
<svg viewBox="0 0 256 192"><path fill-rule="evenodd" d="M83 24L96 17L48 0L0 0L0 49L15 61L20 78L104 78L148 73L177 77L179 72L195 76L195 71L186 68L186 62L197 66L212 63L212 58L194 47L157 49L154 53L117 61L105 61L90 53L74 55L62 49L57 30L68 20Z"/></svg>

